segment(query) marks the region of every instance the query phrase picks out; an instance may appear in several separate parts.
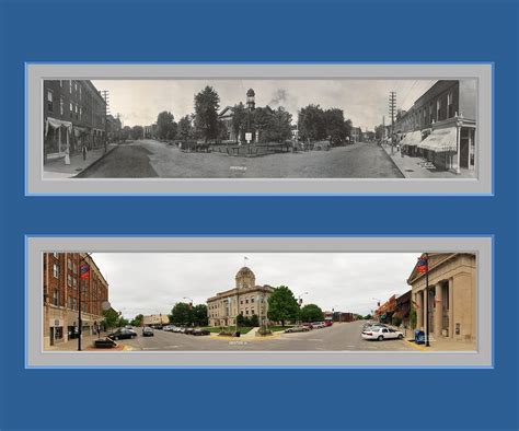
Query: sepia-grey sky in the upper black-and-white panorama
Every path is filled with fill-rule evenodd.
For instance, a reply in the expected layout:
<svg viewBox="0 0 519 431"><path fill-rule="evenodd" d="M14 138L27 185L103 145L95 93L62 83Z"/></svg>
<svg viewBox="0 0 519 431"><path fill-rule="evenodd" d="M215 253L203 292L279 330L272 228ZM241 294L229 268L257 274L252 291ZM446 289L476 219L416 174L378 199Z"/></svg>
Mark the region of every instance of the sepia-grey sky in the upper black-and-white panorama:
<svg viewBox="0 0 519 431"><path fill-rule="evenodd" d="M254 89L256 106L284 106L297 121L298 109L311 103L338 107L362 130L389 124L389 92L396 92L397 108L408 109L436 81L432 80L94 80L97 90L109 91L111 113L120 115L124 126L147 126L162 110L177 121L194 112L194 95L211 85L220 95L220 107L245 103Z"/></svg>

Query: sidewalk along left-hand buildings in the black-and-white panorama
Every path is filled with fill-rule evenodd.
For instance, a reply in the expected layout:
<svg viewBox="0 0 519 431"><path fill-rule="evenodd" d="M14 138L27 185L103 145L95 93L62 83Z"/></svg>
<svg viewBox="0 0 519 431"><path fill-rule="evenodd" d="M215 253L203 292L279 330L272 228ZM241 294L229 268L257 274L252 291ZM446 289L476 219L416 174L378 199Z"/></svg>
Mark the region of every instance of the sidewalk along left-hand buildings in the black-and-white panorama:
<svg viewBox="0 0 519 431"><path fill-rule="evenodd" d="M106 153L104 147L91 150L86 153L86 159L83 160L82 154L72 154L70 156L70 164L65 164L65 158L48 160L44 164L44 179L53 178L72 178L80 172L83 172L95 162L109 154L118 147L117 143L109 143L106 147Z"/></svg>

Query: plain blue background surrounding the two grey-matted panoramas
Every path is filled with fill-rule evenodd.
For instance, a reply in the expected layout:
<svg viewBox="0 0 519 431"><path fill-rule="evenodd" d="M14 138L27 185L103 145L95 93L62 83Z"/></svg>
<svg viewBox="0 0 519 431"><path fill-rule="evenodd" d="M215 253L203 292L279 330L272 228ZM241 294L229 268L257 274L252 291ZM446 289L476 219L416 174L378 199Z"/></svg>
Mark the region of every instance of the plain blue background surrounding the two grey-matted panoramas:
<svg viewBox="0 0 519 431"><path fill-rule="evenodd" d="M0 428L96 428L105 410L120 429L517 428L516 2L0 8ZM494 61L495 196L25 197L25 61ZM25 370L24 235L44 233L494 234L495 369Z"/></svg>

